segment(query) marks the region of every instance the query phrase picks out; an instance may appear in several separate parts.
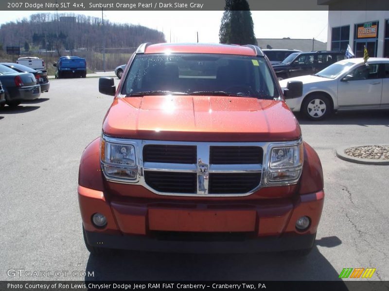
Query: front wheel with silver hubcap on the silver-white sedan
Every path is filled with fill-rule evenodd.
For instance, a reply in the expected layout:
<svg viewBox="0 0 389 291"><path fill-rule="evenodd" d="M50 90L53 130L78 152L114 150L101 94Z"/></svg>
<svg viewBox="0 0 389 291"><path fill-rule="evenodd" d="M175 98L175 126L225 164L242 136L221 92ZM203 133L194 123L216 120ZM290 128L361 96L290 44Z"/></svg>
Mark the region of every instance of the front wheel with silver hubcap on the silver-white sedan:
<svg viewBox="0 0 389 291"><path fill-rule="evenodd" d="M332 108L327 96L314 94L304 100L301 111L311 120L321 120L331 113Z"/></svg>

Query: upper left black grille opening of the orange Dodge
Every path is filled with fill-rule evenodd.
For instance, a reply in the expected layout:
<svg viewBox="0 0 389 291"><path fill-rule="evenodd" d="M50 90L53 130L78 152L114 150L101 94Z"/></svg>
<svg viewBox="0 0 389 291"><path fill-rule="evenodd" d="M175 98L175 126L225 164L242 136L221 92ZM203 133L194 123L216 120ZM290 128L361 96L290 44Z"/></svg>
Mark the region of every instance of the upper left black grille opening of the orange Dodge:
<svg viewBox="0 0 389 291"><path fill-rule="evenodd" d="M143 162L196 163L196 146L146 145Z"/></svg>

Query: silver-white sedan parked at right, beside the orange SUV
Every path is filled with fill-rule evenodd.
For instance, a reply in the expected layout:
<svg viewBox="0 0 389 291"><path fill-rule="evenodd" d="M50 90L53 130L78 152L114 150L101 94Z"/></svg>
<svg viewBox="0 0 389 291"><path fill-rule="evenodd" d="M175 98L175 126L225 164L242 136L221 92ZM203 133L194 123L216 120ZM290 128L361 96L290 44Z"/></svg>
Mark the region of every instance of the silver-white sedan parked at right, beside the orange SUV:
<svg viewBox="0 0 389 291"><path fill-rule="evenodd" d="M315 75L280 81L302 81L302 96L287 98L293 112L320 120L334 111L389 109L389 58L346 59Z"/></svg>

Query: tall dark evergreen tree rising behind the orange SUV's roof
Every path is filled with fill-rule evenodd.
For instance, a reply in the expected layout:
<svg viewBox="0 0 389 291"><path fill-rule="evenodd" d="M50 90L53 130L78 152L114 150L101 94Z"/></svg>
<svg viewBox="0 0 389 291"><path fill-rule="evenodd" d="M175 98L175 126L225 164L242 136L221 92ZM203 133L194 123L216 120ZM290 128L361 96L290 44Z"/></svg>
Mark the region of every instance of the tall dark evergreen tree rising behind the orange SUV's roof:
<svg viewBox="0 0 389 291"><path fill-rule="evenodd" d="M220 24L219 41L222 44L257 44L247 0L226 0Z"/></svg>

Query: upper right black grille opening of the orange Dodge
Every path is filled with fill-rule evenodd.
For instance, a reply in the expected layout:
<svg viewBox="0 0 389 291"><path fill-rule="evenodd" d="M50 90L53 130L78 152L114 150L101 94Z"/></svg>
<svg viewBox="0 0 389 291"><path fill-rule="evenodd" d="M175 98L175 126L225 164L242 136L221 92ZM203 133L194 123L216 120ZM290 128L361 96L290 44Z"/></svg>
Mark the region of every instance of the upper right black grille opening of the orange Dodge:
<svg viewBox="0 0 389 291"><path fill-rule="evenodd" d="M211 164L262 164L264 152L259 146L211 146Z"/></svg>

